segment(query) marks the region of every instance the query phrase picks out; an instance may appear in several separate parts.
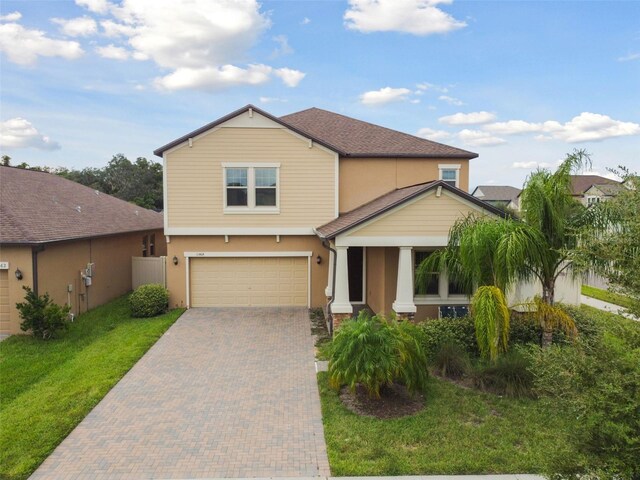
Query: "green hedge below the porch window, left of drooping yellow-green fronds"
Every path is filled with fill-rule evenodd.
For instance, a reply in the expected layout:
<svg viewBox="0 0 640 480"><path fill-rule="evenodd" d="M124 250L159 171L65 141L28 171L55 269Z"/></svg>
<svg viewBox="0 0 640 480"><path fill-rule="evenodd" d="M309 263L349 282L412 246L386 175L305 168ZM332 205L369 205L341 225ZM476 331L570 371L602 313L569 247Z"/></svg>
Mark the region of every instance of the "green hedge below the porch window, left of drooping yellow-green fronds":
<svg viewBox="0 0 640 480"><path fill-rule="evenodd" d="M423 335L422 346L430 361L444 345L457 345L472 357L479 355L476 331L471 317L439 318L420 324Z"/></svg>

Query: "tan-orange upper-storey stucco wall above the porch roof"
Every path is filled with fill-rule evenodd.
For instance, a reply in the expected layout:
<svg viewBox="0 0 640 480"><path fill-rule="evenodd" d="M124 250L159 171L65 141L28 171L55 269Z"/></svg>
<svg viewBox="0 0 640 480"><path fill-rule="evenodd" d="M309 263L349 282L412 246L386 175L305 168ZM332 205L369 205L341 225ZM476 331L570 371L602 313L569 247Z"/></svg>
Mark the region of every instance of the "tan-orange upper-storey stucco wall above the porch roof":
<svg viewBox="0 0 640 480"><path fill-rule="evenodd" d="M341 158L340 212L348 212L396 188L438 180L439 165L460 165L460 188L469 190L469 160Z"/></svg>

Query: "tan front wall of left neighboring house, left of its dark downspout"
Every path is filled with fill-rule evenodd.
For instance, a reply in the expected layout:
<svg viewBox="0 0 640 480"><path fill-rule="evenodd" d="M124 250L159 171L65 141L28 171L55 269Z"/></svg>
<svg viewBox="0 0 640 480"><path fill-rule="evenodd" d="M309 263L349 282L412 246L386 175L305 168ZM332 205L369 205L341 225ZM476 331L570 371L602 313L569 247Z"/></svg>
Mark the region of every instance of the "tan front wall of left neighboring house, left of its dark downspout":
<svg viewBox="0 0 640 480"><path fill-rule="evenodd" d="M15 305L17 302L24 300L25 292L22 287L33 286L31 247L6 247L0 245L0 261L9 262L9 270L7 272L9 322L0 324L0 333L21 333L20 317ZM22 272L22 280L16 279L16 269L20 269Z"/></svg>

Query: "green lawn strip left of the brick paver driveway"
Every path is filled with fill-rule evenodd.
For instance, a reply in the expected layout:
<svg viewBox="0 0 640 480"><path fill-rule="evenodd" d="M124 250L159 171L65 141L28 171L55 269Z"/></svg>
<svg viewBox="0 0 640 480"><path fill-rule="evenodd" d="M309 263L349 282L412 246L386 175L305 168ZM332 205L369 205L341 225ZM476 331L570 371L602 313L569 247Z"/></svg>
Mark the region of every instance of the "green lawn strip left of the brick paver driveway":
<svg viewBox="0 0 640 480"><path fill-rule="evenodd" d="M28 477L182 312L134 319L123 296L56 339L1 342L0 478Z"/></svg>

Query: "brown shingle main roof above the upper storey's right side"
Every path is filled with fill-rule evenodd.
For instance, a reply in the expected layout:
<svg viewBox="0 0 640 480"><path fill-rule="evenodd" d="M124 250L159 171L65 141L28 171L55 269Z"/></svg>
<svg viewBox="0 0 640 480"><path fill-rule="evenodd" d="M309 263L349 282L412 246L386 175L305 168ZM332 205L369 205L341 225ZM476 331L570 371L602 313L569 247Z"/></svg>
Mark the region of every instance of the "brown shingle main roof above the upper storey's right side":
<svg viewBox="0 0 640 480"><path fill-rule="evenodd" d="M356 120L320 108L280 117L351 157L475 158L477 153Z"/></svg>

